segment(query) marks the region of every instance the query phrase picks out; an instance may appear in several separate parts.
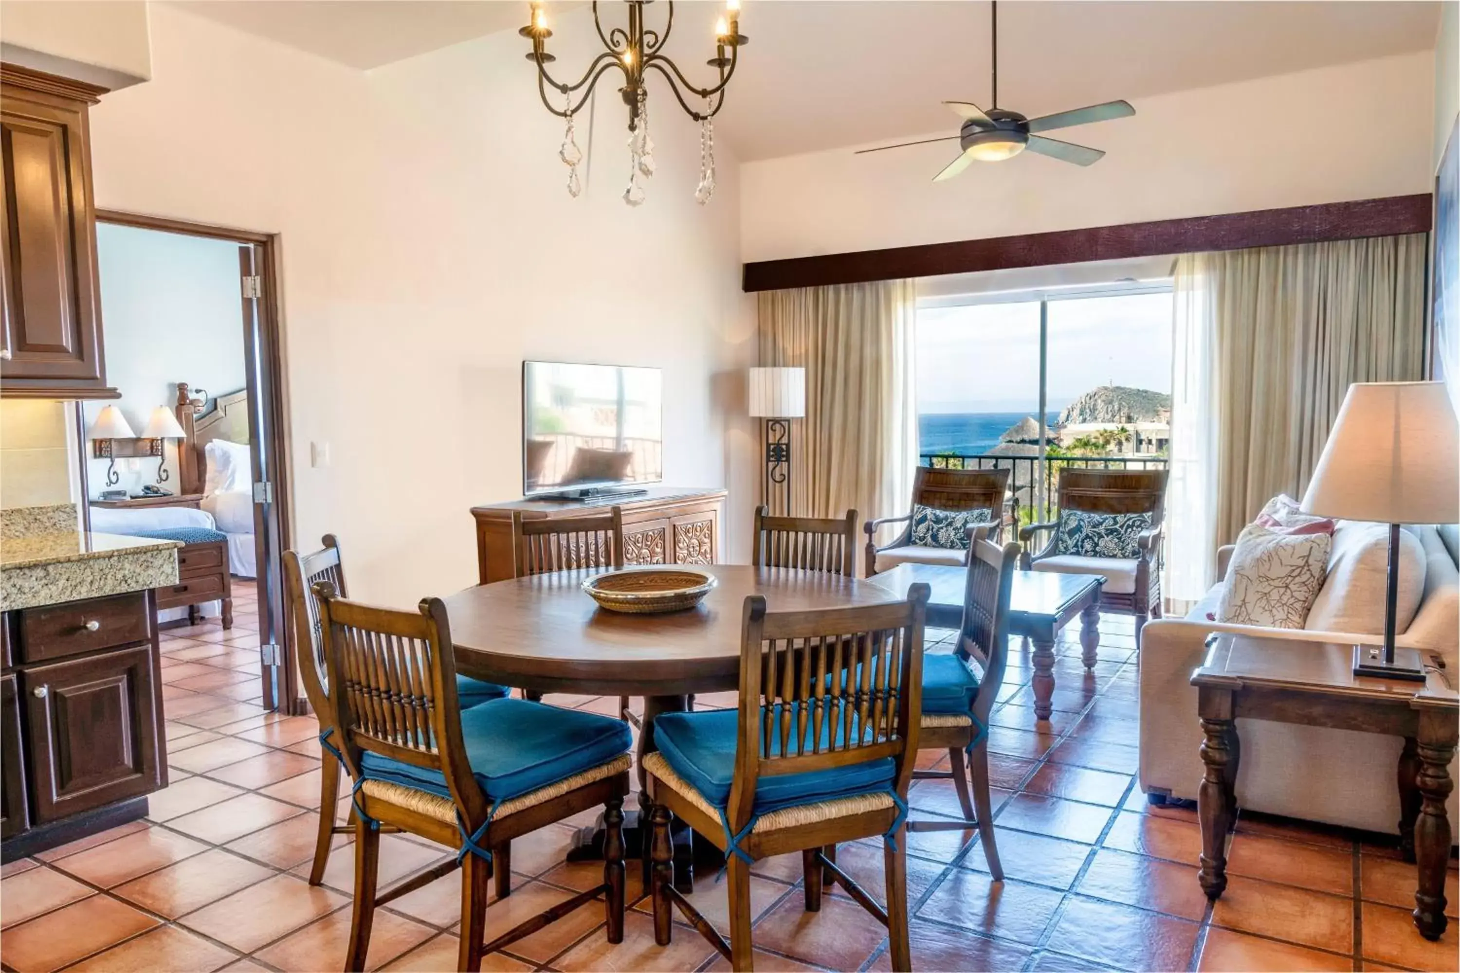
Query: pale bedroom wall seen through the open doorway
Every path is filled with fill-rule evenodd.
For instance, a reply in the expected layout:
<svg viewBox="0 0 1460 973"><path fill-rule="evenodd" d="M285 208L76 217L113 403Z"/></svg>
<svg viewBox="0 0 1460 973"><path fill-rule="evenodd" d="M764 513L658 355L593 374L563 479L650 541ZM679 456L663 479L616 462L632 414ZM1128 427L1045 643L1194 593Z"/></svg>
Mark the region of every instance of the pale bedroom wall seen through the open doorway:
<svg viewBox="0 0 1460 973"><path fill-rule="evenodd" d="M206 389L209 400L244 388L244 317L238 284L238 245L201 236L98 223L101 319L105 322L107 382L121 392L111 403L82 403L86 427L114 404L139 436L152 410L177 403L177 384ZM168 480L177 493L177 442L164 446ZM150 457L118 460L115 487L107 486L107 460L86 452L92 499L102 490L137 493L158 477Z"/></svg>

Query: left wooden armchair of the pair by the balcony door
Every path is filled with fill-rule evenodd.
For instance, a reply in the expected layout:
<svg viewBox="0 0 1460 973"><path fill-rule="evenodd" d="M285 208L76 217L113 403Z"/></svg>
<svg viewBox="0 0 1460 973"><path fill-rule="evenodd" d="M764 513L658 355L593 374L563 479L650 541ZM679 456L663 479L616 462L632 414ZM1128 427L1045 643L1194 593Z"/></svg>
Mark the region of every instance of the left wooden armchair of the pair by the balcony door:
<svg viewBox="0 0 1460 973"><path fill-rule="evenodd" d="M1009 470L937 470L918 467L912 477L912 509L904 516L883 516L867 521L867 578L889 570L898 565L952 565L968 563L968 537L964 532L962 547L933 547L912 543L912 516L918 506L936 511L990 511L996 530L994 543L1003 538L1003 528L1010 535L1019 530L1019 512L1009 497ZM888 544L877 546L877 530L885 524L904 524L902 531ZM972 527L972 525L969 525Z"/></svg>

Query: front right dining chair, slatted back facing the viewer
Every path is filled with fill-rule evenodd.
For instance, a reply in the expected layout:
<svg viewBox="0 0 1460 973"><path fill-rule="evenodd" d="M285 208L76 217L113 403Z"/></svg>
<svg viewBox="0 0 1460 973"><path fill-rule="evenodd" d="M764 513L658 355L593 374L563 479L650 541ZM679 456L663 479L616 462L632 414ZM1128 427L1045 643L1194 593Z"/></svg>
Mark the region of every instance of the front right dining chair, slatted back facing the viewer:
<svg viewBox="0 0 1460 973"><path fill-rule="evenodd" d="M642 759L650 794L654 941L679 909L736 970L752 969L750 865L802 852L806 909L823 875L886 925L894 970L911 969L907 791L918 748L929 586L907 601L766 613L745 600L739 709L664 713ZM673 884L670 815L726 853L730 941ZM883 839L886 906L835 862L835 845ZM826 849L832 849L831 853Z"/></svg>

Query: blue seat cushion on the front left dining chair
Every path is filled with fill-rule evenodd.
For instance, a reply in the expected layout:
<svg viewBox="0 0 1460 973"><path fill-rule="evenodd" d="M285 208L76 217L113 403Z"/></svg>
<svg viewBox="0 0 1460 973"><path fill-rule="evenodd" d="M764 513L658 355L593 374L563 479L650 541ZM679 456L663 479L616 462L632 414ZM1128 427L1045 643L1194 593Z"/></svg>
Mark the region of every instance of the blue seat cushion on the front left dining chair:
<svg viewBox="0 0 1460 973"><path fill-rule="evenodd" d="M628 753L629 726L620 719L526 699L493 699L461 710L461 740L472 775L491 801L545 788ZM366 751L361 775L450 798L445 778Z"/></svg>

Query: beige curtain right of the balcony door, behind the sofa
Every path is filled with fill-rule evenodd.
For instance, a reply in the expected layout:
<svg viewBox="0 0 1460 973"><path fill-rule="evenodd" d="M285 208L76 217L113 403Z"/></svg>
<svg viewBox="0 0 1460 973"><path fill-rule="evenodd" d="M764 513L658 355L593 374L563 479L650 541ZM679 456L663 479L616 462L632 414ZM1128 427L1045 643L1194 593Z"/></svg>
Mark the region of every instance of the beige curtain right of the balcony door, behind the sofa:
<svg viewBox="0 0 1460 973"><path fill-rule="evenodd" d="M1412 233L1177 261L1178 331L1209 328L1190 343L1210 360L1188 406L1213 410L1197 425L1212 430L1199 460L1215 464L1218 543L1273 495L1302 496L1352 382L1422 376L1426 252L1426 235ZM1184 425L1180 369L1177 387L1174 430ZM1172 550L1183 554L1194 553Z"/></svg>

